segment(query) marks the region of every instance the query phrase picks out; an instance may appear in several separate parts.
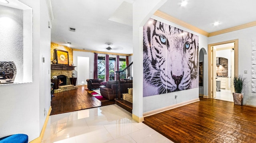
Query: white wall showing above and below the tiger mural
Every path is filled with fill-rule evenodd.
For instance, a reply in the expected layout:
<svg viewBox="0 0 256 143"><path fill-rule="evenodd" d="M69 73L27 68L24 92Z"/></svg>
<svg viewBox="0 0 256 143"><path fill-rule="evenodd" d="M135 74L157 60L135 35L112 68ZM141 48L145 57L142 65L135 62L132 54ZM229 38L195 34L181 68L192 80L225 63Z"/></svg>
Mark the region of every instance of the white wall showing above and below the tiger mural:
<svg viewBox="0 0 256 143"><path fill-rule="evenodd" d="M186 29L180 25L174 24L172 22L169 22L167 20L164 20L162 18L159 18L157 16L152 16L154 20L158 20L160 22L164 22L165 24L172 25L174 27L180 28L182 30L188 31L190 33L193 33L195 35L199 36L199 50L204 47L207 49L208 44L207 44L207 37L204 35L200 35L194 31L191 31L189 29ZM198 53L199 54L199 53ZM199 57L198 57L199 60ZM207 81L204 81L207 82ZM204 93L206 94L206 93ZM178 97L175 99L175 95L178 95ZM167 94L160 94L156 96L148 96L143 98L143 113L149 112L152 110L164 108L166 106L171 106L174 104L178 104L181 102L186 102L188 100L196 99L199 96L199 88L193 88L189 90L182 90L178 92L171 92Z"/></svg>

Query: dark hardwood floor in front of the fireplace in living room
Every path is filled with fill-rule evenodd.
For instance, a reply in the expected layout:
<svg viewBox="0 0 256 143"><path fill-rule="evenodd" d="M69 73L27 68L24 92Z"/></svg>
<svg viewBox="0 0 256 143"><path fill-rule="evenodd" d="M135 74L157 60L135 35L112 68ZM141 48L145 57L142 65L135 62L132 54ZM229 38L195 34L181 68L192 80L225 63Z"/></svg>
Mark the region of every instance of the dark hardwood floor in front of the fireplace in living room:
<svg viewBox="0 0 256 143"><path fill-rule="evenodd" d="M78 86L75 90L55 93L55 97L52 97L50 115L114 104L114 101L100 102L85 89L87 86Z"/></svg>

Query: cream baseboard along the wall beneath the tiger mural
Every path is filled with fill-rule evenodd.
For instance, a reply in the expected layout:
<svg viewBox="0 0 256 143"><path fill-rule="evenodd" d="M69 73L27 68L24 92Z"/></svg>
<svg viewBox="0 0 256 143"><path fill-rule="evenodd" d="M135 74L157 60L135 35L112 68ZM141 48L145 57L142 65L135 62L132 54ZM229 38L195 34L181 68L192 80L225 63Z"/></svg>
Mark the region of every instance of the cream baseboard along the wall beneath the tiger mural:
<svg viewBox="0 0 256 143"><path fill-rule="evenodd" d="M187 104L190 104L190 103L198 102L198 101L200 101L199 98L195 98L195 99L192 99L192 100L188 100L186 102L181 102L181 103L174 104L174 105L171 105L171 106L167 106L167 107L164 107L164 108L160 108L160 109L152 110L152 111L149 111L149 112L145 112L145 113L143 113L143 117L158 114L158 113L161 113L161 112L164 112L164 111L167 111L167 110L171 110L171 109L174 109L174 108L177 108L177 107L180 107L180 106L184 106L184 105L187 105Z"/></svg>

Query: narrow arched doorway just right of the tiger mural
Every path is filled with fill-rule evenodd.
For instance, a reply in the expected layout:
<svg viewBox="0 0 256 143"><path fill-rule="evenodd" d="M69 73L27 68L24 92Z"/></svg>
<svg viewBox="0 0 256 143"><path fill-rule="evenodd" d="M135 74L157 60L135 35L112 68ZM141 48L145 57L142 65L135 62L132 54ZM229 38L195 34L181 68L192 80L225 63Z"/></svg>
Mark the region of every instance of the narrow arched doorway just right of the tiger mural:
<svg viewBox="0 0 256 143"><path fill-rule="evenodd" d="M199 52L199 96L207 98L207 52L201 48Z"/></svg>

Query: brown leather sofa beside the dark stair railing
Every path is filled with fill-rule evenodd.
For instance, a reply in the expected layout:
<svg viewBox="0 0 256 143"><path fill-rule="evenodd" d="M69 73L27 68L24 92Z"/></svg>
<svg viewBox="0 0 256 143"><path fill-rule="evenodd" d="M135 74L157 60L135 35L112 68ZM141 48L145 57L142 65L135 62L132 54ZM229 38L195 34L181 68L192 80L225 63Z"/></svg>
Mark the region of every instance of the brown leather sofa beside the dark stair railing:
<svg viewBox="0 0 256 143"><path fill-rule="evenodd" d="M120 80L120 92L128 93L127 88L132 88L132 80ZM108 100L114 100L118 94L118 81L108 81L106 86L100 86L100 94Z"/></svg>

